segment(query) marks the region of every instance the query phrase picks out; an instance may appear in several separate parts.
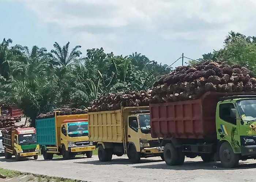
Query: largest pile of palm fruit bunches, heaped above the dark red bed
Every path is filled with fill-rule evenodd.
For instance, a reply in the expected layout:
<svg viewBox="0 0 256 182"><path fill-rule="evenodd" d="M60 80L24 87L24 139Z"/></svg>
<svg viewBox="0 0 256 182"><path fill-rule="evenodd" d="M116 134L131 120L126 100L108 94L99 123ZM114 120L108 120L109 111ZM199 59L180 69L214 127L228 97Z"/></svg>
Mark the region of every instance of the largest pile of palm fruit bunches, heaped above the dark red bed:
<svg viewBox="0 0 256 182"><path fill-rule="evenodd" d="M154 83L151 103L197 99L207 91L254 92L256 79L246 67L210 60L180 66Z"/></svg>

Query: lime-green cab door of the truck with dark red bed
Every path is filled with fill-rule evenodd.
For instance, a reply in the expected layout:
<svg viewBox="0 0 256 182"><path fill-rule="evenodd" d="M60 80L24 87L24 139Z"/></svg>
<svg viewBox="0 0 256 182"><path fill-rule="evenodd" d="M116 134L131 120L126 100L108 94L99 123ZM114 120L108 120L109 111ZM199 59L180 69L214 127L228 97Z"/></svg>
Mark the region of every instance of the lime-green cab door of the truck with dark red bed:
<svg viewBox="0 0 256 182"><path fill-rule="evenodd" d="M219 113L216 114L217 135L220 141L230 143L234 153L240 152L240 135L238 119L231 116L230 109L234 109L234 103L219 104ZM217 110L218 111L218 110Z"/></svg>

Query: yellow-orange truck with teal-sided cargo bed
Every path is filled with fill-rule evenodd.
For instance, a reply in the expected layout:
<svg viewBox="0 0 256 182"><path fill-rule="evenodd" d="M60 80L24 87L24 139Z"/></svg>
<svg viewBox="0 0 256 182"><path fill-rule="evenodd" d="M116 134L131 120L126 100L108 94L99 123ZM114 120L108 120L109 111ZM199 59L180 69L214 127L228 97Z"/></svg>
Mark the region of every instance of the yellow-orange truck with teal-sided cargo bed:
<svg viewBox="0 0 256 182"><path fill-rule="evenodd" d="M53 154L64 159L86 154L92 157L93 142L88 137L88 114L60 115L55 111L52 118L36 119L37 142L44 159L52 159Z"/></svg>

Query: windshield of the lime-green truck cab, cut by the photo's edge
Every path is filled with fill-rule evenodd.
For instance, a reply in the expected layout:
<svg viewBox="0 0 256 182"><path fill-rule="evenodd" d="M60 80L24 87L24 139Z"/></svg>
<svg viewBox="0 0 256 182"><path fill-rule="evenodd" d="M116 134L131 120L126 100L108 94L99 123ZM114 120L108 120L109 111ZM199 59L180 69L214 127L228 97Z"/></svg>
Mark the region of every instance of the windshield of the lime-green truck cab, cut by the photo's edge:
<svg viewBox="0 0 256 182"><path fill-rule="evenodd" d="M256 99L238 100L237 108L243 120L256 120Z"/></svg>

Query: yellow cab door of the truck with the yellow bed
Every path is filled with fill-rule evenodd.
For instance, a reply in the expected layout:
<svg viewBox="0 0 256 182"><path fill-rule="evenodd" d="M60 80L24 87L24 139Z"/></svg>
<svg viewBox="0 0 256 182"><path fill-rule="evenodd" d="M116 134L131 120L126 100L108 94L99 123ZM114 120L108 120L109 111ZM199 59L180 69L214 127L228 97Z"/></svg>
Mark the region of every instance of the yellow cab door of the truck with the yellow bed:
<svg viewBox="0 0 256 182"><path fill-rule="evenodd" d="M136 147L137 152L140 152L138 126L138 118L136 116L130 116L128 118L128 142L133 143Z"/></svg>

